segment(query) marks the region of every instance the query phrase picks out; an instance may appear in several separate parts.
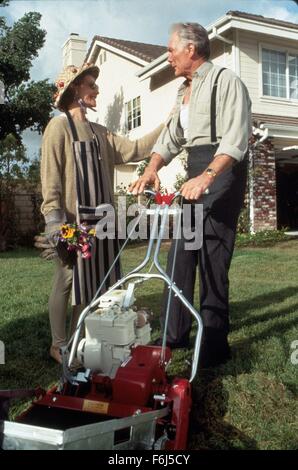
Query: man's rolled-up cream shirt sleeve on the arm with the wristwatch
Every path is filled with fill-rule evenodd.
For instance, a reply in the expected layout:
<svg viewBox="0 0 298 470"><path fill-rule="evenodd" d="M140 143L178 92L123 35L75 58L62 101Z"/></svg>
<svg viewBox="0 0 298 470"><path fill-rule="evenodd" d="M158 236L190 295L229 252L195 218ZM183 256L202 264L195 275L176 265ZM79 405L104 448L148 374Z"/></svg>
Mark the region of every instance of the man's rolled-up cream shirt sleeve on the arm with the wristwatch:
<svg viewBox="0 0 298 470"><path fill-rule="evenodd" d="M218 116L222 138L215 156L224 154L241 161L247 152L252 130L251 101L245 85L237 76L229 77L222 89Z"/></svg>

